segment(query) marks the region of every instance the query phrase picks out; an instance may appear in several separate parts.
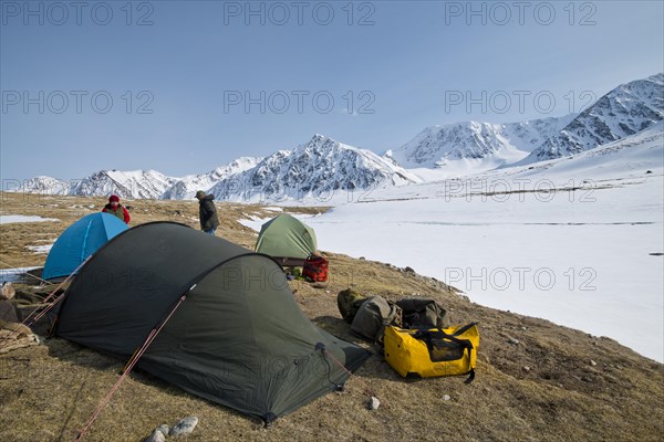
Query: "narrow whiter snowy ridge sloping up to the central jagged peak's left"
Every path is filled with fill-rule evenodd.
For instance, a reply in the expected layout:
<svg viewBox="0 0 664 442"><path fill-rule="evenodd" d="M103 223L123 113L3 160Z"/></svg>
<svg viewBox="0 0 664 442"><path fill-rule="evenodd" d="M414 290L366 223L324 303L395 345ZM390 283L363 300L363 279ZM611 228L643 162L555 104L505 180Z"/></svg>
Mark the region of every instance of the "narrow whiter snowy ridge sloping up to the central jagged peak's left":
<svg viewBox="0 0 664 442"><path fill-rule="evenodd" d="M208 190L224 179L241 173L258 165L262 158L260 157L241 157L226 166L216 168L207 173L188 175L178 179L178 181L168 188L160 198L169 200L185 200L194 198L196 191L200 189Z"/></svg>

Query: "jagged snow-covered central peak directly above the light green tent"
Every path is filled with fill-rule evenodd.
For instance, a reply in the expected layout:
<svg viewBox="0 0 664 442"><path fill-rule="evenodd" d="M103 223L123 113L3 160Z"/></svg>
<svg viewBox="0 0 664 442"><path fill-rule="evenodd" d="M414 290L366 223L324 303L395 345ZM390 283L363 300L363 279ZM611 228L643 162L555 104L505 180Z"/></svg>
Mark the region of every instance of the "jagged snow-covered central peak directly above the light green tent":
<svg viewBox="0 0 664 442"><path fill-rule="evenodd" d="M220 181L210 192L227 200L299 199L419 181L417 176L370 150L317 134L292 151L279 150L256 167Z"/></svg>

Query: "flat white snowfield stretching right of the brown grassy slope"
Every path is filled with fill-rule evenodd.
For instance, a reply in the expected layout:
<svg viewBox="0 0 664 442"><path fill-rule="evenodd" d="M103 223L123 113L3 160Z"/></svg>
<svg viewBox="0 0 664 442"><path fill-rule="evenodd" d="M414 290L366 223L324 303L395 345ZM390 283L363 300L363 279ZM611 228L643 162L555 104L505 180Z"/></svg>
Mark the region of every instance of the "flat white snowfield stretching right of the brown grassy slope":
<svg viewBox="0 0 664 442"><path fill-rule="evenodd" d="M663 185L660 176L598 190L588 202L575 191L550 201L531 193L347 204L307 222L321 249L411 266L479 304L609 336L663 361L663 257L651 255L663 252Z"/></svg>

